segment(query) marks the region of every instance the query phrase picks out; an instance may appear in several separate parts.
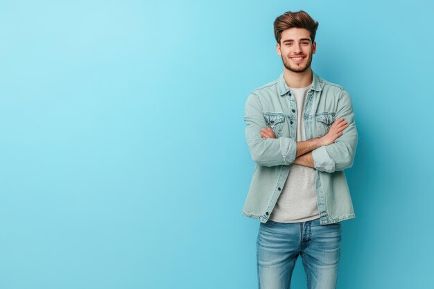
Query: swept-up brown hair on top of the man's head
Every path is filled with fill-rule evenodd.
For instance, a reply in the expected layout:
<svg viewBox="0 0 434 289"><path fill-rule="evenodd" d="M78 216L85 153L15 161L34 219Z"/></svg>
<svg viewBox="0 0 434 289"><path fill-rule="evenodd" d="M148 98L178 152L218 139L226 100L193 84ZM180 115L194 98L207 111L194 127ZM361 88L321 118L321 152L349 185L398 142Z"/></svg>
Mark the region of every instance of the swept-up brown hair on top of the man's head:
<svg viewBox="0 0 434 289"><path fill-rule="evenodd" d="M300 10L298 12L284 12L275 20L275 37L278 44L280 44L281 33L289 28L304 28L311 32L312 43L315 42L316 29L318 22L313 20L312 17Z"/></svg>

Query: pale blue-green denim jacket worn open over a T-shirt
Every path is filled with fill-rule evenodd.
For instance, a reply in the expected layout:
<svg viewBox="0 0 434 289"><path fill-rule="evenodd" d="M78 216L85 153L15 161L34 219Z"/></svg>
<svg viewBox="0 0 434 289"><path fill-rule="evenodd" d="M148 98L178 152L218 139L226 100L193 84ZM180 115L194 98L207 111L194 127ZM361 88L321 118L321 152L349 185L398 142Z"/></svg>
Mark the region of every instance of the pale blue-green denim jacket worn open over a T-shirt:
<svg viewBox="0 0 434 289"><path fill-rule="evenodd" d="M333 121L341 116L349 124L342 136L312 151L322 225L355 217L344 169L353 164L358 137L348 92L313 73L303 116L306 140L327 134ZM243 215L267 222L297 151L297 105L283 73L252 91L245 104L244 121L245 138L256 166ZM261 137L261 128L267 126L276 139Z"/></svg>

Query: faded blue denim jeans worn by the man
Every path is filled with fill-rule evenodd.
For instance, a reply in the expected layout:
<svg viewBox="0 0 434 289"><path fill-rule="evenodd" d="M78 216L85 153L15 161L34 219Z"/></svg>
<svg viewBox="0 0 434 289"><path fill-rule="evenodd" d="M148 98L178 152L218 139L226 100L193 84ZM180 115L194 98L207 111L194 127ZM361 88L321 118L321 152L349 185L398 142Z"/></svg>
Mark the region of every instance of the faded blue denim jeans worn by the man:
<svg viewBox="0 0 434 289"><path fill-rule="evenodd" d="M298 255L308 289L334 289L338 277L340 223L260 223L257 238L259 289L288 289Z"/></svg>

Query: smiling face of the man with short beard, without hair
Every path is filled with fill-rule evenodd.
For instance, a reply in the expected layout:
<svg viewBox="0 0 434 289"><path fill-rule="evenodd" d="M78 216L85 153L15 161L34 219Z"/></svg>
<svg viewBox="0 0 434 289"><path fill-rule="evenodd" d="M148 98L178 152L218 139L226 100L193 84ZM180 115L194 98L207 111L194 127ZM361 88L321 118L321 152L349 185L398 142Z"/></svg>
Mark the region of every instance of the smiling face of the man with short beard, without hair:
<svg viewBox="0 0 434 289"><path fill-rule="evenodd" d="M290 28L281 33L280 44L277 44L276 49L286 69L302 73L311 67L316 43L312 43L309 30Z"/></svg>

